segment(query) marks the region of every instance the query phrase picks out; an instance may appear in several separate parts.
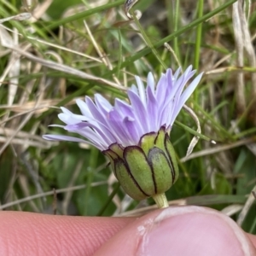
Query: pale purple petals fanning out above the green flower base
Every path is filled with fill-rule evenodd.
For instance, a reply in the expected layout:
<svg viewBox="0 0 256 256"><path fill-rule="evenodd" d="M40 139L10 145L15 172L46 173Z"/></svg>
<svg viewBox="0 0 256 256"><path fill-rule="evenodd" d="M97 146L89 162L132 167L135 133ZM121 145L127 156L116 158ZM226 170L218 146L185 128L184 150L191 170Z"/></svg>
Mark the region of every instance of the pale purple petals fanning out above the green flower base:
<svg viewBox="0 0 256 256"><path fill-rule="evenodd" d="M147 86L139 77L135 77L137 86L127 91L130 103L118 98L112 106L103 96L96 94L95 102L85 97L85 102L77 100L82 114L75 114L67 108L61 108L59 119L66 125L51 125L78 133L87 140L63 135L44 135L48 140L90 143L104 151L113 143L123 147L137 145L140 138L149 132L157 132L165 126L170 132L177 114L195 90L201 80L199 74L183 91L189 79L195 74L192 66L180 75L181 68L172 74L167 69L155 86L152 73L148 73Z"/></svg>

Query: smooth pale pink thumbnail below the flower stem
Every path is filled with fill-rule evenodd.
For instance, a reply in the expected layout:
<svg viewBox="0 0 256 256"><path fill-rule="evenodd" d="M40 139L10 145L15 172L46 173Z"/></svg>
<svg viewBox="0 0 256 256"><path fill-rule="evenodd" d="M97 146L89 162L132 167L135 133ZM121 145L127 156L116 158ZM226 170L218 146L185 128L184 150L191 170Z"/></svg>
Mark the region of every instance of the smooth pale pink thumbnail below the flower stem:
<svg viewBox="0 0 256 256"><path fill-rule="evenodd" d="M139 227L137 255L254 255L247 236L223 214L203 207L169 207Z"/></svg>

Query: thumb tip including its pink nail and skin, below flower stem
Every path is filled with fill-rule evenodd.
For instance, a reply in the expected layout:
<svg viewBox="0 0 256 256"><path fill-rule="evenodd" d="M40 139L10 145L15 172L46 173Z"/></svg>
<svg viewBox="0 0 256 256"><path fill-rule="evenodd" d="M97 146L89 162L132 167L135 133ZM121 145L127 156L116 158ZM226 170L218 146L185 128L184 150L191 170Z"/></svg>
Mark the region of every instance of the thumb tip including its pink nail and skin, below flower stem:
<svg viewBox="0 0 256 256"><path fill-rule="evenodd" d="M150 212L120 230L96 255L255 255L252 243L224 214L204 207Z"/></svg>

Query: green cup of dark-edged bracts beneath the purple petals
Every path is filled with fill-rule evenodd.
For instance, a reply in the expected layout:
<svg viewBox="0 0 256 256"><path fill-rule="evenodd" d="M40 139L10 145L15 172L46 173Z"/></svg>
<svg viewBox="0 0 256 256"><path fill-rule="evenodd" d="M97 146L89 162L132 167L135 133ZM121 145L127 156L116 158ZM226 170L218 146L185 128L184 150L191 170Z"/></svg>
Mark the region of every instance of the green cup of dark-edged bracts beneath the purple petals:
<svg viewBox="0 0 256 256"><path fill-rule="evenodd" d="M123 148L114 143L103 153L125 192L135 200L163 194L177 181L177 160L165 126L144 135L138 145Z"/></svg>

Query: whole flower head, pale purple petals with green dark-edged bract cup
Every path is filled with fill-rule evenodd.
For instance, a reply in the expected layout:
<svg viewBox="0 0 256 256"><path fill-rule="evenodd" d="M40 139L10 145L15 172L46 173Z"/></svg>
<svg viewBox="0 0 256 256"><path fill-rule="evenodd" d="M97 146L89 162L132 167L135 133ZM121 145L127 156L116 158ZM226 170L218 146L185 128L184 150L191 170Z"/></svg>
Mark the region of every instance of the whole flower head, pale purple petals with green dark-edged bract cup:
<svg viewBox="0 0 256 256"><path fill-rule="evenodd" d="M108 156L114 175L128 195L137 200L162 195L176 182L177 160L169 132L177 114L201 80L189 66L172 74L167 69L155 86L148 73L147 86L135 77L137 86L127 91L130 103L115 99L112 106L96 94L93 102L77 100L82 114L61 108L59 119L66 125L52 125L78 133L87 140L62 135L44 135L45 139L84 142L94 145Z"/></svg>

